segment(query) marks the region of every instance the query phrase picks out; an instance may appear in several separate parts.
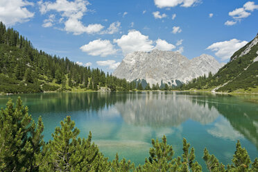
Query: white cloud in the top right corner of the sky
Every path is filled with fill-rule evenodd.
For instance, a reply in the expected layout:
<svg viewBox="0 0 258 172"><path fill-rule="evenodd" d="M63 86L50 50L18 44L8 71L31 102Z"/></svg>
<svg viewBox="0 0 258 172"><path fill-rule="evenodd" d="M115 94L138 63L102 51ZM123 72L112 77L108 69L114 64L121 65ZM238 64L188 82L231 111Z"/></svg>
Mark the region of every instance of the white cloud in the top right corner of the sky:
<svg viewBox="0 0 258 172"><path fill-rule="evenodd" d="M235 21L234 24L236 24L236 21L240 21L241 19L244 19L251 15L251 12L254 10L258 10L258 5L255 5L255 2L248 1L243 5L242 8L236 8L235 10L232 10L228 12L228 15L232 17ZM225 22L225 25L232 26L234 25L233 21L227 21Z"/></svg>

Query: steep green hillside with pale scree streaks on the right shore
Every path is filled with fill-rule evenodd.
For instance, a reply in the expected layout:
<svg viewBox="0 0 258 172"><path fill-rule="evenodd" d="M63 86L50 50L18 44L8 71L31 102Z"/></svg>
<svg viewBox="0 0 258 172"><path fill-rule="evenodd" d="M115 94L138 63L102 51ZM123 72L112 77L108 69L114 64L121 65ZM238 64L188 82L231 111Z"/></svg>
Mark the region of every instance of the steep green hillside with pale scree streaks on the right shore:
<svg viewBox="0 0 258 172"><path fill-rule="evenodd" d="M211 89L216 92L258 92L258 34L236 51L230 62L214 75L191 80L181 89Z"/></svg>

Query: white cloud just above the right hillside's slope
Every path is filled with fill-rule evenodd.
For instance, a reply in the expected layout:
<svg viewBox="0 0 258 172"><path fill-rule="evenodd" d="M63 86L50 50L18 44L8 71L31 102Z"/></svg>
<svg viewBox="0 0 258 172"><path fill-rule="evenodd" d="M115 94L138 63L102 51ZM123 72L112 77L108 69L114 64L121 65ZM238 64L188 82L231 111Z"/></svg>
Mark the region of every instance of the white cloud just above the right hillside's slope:
<svg viewBox="0 0 258 172"><path fill-rule="evenodd" d="M207 47L207 49L216 51L215 55L221 60L228 60L234 52L241 49L248 42L232 39L224 42L216 42Z"/></svg>

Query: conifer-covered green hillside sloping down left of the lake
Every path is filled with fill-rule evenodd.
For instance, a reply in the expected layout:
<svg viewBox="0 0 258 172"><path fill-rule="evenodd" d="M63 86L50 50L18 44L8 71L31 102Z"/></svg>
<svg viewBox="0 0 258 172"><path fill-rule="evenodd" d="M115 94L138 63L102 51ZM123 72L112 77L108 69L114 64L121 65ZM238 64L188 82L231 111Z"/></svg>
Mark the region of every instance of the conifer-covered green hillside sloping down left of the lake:
<svg viewBox="0 0 258 172"><path fill-rule="evenodd" d="M100 87L126 91L135 89L136 83L38 51L24 36L0 23L0 93L84 91Z"/></svg>

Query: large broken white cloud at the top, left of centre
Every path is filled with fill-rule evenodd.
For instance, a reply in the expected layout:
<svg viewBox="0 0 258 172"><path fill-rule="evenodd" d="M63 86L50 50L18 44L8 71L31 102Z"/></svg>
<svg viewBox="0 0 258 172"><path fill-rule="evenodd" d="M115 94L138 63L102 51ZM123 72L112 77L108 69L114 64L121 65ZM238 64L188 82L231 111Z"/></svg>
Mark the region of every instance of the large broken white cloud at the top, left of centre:
<svg viewBox="0 0 258 172"><path fill-rule="evenodd" d="M86 0L55 0L38 2L40 6L40 12L46 14L49 11L60 12L60 22L64 22L64 31L74 33L74 35L80 35L82 33L94 34L100 33L104 26L101 24L89 24L85 26L80 20L83 18L85 12L87 12L87 5L89 2ZM44 20L44 27L53 26L53 20Z"/></svg>

